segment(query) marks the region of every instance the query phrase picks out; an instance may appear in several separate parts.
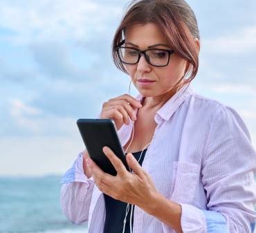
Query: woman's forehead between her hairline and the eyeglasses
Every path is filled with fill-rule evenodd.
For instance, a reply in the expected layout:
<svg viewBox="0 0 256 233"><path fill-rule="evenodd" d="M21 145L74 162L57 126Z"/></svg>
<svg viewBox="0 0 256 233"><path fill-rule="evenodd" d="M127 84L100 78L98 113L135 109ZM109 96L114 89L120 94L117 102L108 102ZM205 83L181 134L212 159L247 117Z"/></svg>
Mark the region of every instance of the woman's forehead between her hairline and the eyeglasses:
<svg viewBox="0 0 256 233"><path fill-rule="evenodd" d="M167 44L161 29L156 24L136 24L125 31L125 41L138 46L151 46L154 44Z"/></svg>

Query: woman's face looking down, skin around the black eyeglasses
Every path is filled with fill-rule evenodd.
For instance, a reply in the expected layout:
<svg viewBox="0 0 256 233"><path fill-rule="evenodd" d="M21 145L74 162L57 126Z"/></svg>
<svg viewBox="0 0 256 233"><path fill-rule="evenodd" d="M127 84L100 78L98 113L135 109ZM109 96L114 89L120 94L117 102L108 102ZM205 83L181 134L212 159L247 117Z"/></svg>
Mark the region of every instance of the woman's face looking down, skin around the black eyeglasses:
<svg viewBox="0 0 256 233"><path fill-rule="evenodd" d="M158 26L152 23L127 28L125 32L125 46L140 50L146 50L149 47L172 49L167 45L165 36ZM185 59L176 55L176 53L170 55L169 64L163 67L150 65L147 63L144 55L141 55L137 64L125 64L134 86L145 97L156 97L173 93L174 85L184 75L185 66ZM140 80L151 80L154 82L141 82Z"/></svg>

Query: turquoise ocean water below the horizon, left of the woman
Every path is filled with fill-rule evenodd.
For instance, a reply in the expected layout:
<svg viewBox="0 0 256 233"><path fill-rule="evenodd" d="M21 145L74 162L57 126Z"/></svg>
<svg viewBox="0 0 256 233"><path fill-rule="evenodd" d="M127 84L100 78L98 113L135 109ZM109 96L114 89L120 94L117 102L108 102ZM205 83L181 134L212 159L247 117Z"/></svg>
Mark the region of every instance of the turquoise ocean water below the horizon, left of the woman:
<svg viewBox="0 0 256 233"><path fill-rule="evenodd" d="M0 177L0 233L86 233L62 214L60 179Z"/></svg>

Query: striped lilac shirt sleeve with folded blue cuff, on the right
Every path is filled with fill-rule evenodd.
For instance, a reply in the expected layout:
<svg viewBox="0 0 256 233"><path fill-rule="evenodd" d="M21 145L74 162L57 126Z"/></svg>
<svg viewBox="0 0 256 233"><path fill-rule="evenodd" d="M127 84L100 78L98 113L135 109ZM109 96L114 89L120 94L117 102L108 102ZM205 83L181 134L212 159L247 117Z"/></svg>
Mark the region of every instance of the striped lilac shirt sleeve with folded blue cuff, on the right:
<svg viewBox="0 0 256 233"><path fill-rule="evenodd" d="M183 233L252 233L256 213L256 153L239 115L223 107L212 115L202 158L207 210L181 204Z"/></svg>

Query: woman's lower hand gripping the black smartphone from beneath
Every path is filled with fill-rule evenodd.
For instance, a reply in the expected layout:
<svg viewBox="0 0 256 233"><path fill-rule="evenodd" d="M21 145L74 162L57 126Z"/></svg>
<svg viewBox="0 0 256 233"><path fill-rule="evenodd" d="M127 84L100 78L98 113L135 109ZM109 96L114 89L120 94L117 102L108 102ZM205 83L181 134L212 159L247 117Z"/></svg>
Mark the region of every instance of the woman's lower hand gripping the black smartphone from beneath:
<svg viewBox="0 0 256 233"><path fill-rule="evenodd" d="M126 156L127 164L133 172L127 171L122 161L111 151L109 147L103 147L102 151L109 158L117 171L116 176L104 173L91 158L86 160L93 175L93 180L101 192L123 201L137 205L145 211L149 210L149 203L158 194L152 179L138 164L131 153Z"/></svg>

